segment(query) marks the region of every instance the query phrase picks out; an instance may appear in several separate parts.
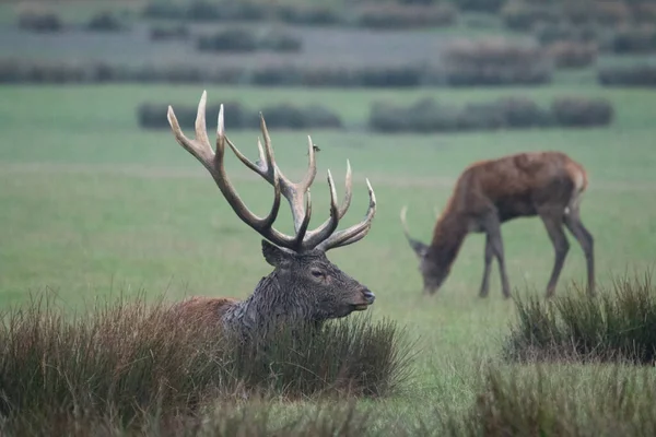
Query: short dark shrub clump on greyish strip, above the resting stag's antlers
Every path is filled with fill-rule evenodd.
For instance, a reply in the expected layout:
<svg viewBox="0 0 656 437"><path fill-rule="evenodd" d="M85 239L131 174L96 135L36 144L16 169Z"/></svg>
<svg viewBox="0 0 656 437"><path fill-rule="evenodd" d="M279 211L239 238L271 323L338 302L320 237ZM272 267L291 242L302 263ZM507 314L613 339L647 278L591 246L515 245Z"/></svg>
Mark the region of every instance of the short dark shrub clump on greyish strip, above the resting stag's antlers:
<svg viewBox="0 0 656 437"><path fill-rule="evenodd" d="M301 38L286 32L269 32L256 35L253 31L239 27L226 28L198 38L197 47L201 51L300 51Z"/></svg>

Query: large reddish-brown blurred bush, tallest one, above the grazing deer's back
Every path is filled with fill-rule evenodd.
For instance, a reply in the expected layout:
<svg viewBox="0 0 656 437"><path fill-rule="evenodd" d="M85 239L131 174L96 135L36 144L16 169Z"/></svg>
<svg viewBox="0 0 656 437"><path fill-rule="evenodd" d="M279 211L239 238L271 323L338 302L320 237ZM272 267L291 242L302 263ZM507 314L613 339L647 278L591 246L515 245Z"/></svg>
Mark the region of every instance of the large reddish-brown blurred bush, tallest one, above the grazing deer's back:
<svg viewBox="0 0 656 437"><path fill-rule="evenodd" d="M445 81L450 85L542 84L551 63L540 47L504 39L460 40L444 50Z"/></svg>

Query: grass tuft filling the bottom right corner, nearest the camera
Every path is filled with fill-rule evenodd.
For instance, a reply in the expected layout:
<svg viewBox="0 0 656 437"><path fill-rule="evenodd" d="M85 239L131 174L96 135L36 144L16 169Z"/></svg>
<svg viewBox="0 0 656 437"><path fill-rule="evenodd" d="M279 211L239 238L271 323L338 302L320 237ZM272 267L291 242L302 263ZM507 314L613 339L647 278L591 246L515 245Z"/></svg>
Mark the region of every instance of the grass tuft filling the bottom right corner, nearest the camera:
<svg viewBox="0 0 656 437"><path fill-rule="evenodd" d="M511 371L506 371L511 370ZM656 378L646 369L491 366L469 411L438 414L444 436L654 436ZM427 434L424 434L427 435Z"/></svg>

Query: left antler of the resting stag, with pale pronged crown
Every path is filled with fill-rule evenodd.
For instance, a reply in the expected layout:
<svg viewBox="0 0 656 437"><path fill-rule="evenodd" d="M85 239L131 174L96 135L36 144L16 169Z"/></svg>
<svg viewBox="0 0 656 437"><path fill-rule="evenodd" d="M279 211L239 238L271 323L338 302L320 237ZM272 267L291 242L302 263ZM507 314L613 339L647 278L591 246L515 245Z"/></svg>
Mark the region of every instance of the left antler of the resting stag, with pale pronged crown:
<svg viewBox="0 0 656 437"><path fill-rule="evenodd" d="M248 226L254 228L265 238L270 239L277 245L289 245L291 238L271 227L272 223L278 216L278 211L280 210L281 189L278 180L278 175L276 175L274 173L272 178L273 204L271 205L271 211L266 217L259 217L246 206L244 201L239 198L239 194L237 194L236 190L232 186L230 179L227 178L227 175L225 174L223 156L225 152L225 142L227 139L225 138L225 127L223 121L223 105L221 105L221 108L219 110L216 128L216 153L214 153L212 151L212 146L210 145L210 140L206 128L206 104L207 92L203 91L200 102L198 104L198 113L196 116L195 140L189 140L187 137L185 137L177 121L177 118L175 117L173 107L168 106L167 118L177 142L191 155L194 155L208 169L208 172L214 179L214 182L216 182L216 186L223 193L223 197L225 198L225 200L227 200L227 203L232 206L233 211L244 223L246 223Z"/></svg>

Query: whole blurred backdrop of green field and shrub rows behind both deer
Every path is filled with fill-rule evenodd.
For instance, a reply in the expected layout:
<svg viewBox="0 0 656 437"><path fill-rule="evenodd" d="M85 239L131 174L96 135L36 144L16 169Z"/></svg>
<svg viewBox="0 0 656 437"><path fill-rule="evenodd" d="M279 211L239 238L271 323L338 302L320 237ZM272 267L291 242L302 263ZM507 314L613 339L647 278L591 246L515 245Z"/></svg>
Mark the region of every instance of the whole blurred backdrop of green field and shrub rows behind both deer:
<svg viewBox="0 0 656 437"><path fill-rule="evenodd" d="M602 288L618 274L649 270L655 54L648 1L3 2L0 306L40 292L73 309L95 296L253 291L270 271L258 235L166 125L172 104L190 111L180 117L190 134L207 90L208 130L226 104L227 134L255 157L253 119L262 111L292 177L305 169L312 135L321 151L311 226L328 214L328 168L341 196L347 160L353 167L342 226L366 210L365 177L376 191L370 235L329 257L376 293L373 319L397 321L418 343L403 390L359 401L374 412L370 432L467 412L483 387L483 363L499 361L515 304L502 299L496 267L490 297L478 298L480 235L467 238L443 290L422 295L401 206L427 240L435 209L469 164L563 151L588 170L582 216ZM247 204L267 211L270 187L233 156L227 167ZM286 211L278 223L290 229ZM541 296L553 260L543 225L519 220L502 232L514 293ZM570 241L557 295L575 293L567 284L585 274ZM514 364L496 366L515 375ZM567 399L576 403L612 381L610 371L554 365L547 379L566 390L575 378L583 389ZM273 405L304 411L315 401Z"/></svg>

